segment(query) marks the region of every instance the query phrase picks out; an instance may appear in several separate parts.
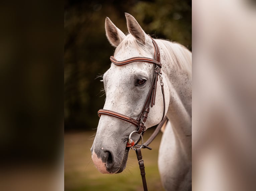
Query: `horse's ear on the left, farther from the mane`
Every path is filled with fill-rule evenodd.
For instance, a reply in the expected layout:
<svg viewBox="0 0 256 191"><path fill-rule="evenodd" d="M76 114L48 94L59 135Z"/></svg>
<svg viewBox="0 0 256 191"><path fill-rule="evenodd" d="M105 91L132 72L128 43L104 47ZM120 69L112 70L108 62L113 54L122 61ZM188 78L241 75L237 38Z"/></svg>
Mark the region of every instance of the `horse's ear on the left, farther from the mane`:
<svg viewBox="0 0 256 191"><path fill-rule="evenodd" d="M117 28L108 17L106 17L105 20L105 30L110 44L114 47L117 47L125 38L125 34Z"/></svg>

